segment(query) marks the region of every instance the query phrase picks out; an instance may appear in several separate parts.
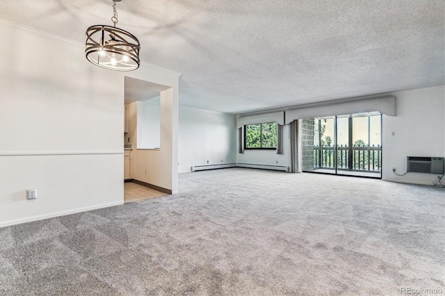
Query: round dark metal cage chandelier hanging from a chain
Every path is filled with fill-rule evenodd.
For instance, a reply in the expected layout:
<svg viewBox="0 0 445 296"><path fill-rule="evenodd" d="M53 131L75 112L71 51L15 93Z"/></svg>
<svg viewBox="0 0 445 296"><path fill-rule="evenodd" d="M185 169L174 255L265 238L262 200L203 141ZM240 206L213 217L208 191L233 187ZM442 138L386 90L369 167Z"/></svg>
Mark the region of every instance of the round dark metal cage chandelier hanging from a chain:
<svg viewBox="0 0 445 296"><path fill-rule="evenodd" d="M133 71L140 65L138 38L131 33L116 28L118 13L113 0L114 26L95 25L86 30L85 56L93 64L116 71Z"/></svg>

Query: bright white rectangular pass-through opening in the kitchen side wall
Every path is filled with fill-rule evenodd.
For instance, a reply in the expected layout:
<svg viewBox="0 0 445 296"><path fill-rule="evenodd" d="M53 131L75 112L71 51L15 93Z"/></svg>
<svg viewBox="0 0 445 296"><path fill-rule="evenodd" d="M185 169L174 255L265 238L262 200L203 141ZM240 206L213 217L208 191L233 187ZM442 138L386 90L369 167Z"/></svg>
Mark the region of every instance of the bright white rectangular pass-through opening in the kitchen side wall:
<svg viewBox="0 0 445 296"><path fill-rule="evenodd" d="M141 139L138 148L161 147L161 97L142 102Z"/></svg>

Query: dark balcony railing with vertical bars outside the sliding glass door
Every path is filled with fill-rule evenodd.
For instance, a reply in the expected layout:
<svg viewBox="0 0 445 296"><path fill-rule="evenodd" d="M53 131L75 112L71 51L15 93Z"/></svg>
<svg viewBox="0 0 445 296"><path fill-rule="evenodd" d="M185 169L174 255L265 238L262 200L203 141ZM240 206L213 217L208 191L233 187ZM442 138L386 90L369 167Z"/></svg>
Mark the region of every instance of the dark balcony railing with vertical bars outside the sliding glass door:
<svg viewBox="0 0 445 296"><path fill-rule="evenodd" d="M382 147L378 146L339 146L337 147L337 168L380 172L382 167ZM335 147L314 146L314 169L335 168Z"/></svg>

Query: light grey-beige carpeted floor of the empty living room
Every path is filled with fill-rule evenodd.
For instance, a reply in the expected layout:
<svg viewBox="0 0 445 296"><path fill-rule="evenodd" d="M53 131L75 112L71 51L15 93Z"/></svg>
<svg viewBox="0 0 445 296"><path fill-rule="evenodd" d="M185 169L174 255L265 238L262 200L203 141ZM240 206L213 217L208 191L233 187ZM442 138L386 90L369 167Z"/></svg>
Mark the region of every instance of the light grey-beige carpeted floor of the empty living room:
<svg viewBox="0 0 445 296"><path fill-rule="evenodd" d="M179 182L0 229L0 295L445 293L443 188L240 168Z"/></svg>

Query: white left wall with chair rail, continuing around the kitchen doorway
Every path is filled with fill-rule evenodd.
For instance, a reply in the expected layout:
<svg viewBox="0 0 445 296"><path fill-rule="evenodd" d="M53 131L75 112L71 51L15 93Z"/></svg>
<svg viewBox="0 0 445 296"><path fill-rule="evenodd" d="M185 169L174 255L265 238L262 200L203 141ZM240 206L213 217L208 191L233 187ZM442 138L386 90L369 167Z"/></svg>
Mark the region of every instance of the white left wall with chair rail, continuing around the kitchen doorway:
<svg viewBox="0 0 445 296"><path fill-rule="evenodd" d="M83 53L0 20L0 226L123 203L124 74ZM141 65L127 75L171 87L163 178L177 188L178 73ZM38 199L26 200L29 188Z"/></svg>

